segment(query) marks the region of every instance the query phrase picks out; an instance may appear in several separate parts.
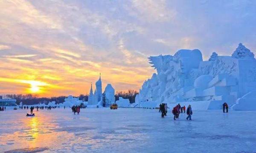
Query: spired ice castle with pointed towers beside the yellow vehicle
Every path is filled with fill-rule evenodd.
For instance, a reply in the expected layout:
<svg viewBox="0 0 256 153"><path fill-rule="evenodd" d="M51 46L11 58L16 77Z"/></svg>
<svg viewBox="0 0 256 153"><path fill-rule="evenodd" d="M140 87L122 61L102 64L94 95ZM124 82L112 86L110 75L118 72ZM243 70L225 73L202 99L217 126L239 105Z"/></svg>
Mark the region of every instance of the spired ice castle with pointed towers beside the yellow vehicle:
<svg viewBox="0 0 256 153"><path fill-rule="evenodd" d="M105 91L102 93L101 75L99 75L99 80L95 85L96 89L93 93L93 85L91 84L88 105L101 105L103 107L108 107L110 104L115 103L115 89L111 84L108 84Z"/></svg>

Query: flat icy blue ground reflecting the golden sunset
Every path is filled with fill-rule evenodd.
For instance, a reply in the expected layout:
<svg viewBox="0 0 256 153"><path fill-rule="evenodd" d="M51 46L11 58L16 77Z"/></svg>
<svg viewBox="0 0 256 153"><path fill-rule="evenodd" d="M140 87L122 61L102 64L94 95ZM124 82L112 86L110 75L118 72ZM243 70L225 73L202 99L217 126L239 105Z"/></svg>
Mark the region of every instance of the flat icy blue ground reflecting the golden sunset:
<svg viewBox="0 0 256 153"><path fill-rule="evenodd" d="M135 108L26 112L0 112L1 153L256 153L256 111L194 111L193 121Z"/></svg>

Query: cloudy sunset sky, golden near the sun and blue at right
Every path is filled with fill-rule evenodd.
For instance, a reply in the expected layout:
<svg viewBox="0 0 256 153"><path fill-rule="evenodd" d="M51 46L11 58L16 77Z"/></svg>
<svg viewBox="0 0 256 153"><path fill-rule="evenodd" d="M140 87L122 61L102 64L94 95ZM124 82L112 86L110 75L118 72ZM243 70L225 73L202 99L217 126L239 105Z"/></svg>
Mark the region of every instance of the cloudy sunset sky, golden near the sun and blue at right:
<svg viewBox="0 0 256 153"><path fill-rule="evenodd" d="M149 56L256 54L255 0L0 0L0 95L139 90Z"/></svg>

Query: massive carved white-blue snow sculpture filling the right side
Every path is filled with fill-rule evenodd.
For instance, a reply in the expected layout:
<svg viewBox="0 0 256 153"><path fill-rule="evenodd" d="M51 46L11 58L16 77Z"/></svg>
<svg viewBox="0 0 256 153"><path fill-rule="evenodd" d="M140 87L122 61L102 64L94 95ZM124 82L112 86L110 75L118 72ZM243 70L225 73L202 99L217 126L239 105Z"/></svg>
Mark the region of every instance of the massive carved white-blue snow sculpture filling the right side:
<svg viewBox="0 0 256 153"><path fill-rule="evenodd" d="M174 56L160 55L149 61L157 74L143 83L136 96L139 107L180 103L202 110L221 109L224 102L231 106L237 98L256 90L256 60L241 43L232 56L213 52L209 61L202 60L198 49L182 49Z"/></svg>

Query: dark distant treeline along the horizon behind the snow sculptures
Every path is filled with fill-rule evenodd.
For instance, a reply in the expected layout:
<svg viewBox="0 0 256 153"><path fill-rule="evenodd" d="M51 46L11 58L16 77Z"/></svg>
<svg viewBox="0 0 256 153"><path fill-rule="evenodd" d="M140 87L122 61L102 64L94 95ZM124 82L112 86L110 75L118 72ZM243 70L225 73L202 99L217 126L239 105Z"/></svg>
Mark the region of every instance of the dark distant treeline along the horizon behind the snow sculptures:
<svg viewBox="0 0 256 153"><path fill-rule="evenodd" d="M116 101L119 100L119 97L129 99L130 103L135 102L135 96L138 94L137 91L129 89L127 92L116 92L115 99ZM23 102L25 105L32 105L32 104L40 104L45 103L48 104L51 101L56 101L56 104L60 104L64 102L64 99L67 98L67 96L58 96L58 97L42 97L39 98L38 95L32 95L32 94L9 94L6 95L8 98L16 99L17 104L20 104L20 102ZM81 101L88 101L88 95L79 95L79 100Z"/></svg>

